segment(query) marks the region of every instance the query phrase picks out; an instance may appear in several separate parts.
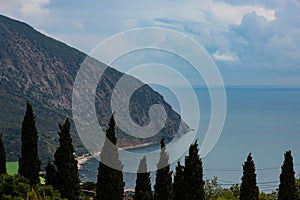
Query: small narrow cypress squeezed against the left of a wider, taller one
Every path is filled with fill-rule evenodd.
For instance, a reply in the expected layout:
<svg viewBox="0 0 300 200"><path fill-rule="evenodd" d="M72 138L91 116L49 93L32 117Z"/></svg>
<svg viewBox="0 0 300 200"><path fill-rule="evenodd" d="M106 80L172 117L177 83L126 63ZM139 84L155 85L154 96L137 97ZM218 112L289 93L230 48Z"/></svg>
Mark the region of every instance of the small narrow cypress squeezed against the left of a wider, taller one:
<svg viewBox="0 0 300 200"><path fill-rule="evenodd" d="M173 191L174 200L184 200L185 196L185 182L184 182L184 166L178 161L174 175Z"/></svg>

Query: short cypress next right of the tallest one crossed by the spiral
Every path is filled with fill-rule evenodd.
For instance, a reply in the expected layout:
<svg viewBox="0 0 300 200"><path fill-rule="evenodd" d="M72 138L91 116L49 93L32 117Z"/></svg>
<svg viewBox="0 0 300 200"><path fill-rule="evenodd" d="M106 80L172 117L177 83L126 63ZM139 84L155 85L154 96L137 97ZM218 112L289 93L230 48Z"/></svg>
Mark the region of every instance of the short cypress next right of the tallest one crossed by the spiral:
<svg viewBox="0 0 300 200"><path fill-rule="evenodd" d="M137 171L134 200L152 200L150 172L147 172L147 160L144 156Z"/></svg>

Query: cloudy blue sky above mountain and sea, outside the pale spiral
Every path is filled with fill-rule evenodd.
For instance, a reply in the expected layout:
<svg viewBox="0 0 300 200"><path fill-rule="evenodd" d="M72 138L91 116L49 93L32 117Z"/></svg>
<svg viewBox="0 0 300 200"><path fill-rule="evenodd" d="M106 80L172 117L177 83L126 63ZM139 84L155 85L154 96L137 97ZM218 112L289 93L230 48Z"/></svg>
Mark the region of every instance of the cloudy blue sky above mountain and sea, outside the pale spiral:
<svg viewBox="0 0 300 200"><path fill-rule="evenodd" d="M169 28L206 49L225 86L300 86L299 0L0 0L0 13L85 53L122 31Z"/></svg>

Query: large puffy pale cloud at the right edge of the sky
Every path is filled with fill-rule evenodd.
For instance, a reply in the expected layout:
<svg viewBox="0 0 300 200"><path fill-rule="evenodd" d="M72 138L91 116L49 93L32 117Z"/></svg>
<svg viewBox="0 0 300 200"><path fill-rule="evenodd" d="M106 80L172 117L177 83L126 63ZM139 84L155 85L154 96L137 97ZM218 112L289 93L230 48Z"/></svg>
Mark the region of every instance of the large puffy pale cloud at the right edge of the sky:
<svg viewBox="0 0 300 200"><path fill-rule="evenodd" d="M300 71L300 7L287 2L267 21L257 15L244 15L240 25L232 26L229 49L238 52L244 66L256 70Z"/></svg>

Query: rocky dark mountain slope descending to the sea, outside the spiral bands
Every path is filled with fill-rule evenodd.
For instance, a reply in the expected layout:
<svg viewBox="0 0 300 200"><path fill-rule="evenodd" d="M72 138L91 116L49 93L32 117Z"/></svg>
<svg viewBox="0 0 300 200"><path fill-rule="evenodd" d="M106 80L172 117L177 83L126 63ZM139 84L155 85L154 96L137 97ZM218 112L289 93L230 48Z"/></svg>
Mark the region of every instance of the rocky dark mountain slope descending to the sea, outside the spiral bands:
<svg viewBox="0 0 300 200"><path fill-rule="evenodd" d="M18 160L20 154L20 129L27 101L34 108L39 131L39 154L43 161L52 158L58 146L58 123L63 123L66 117L72 122L72 137L77 153L86 151L76 133L71 107L74 80L86 57L86 54L41 34L25 23L0 15L0 132L4 133L8 160ZM106 67L92 60L94 65ZM112 90L123 75L108 67L98 84L95 107L103 128L112 114ZM134 77L128 78L140 83ZM183 123L182 130L177 133L180 116L159 93L146 84L131 97L132 119L140 125L149 123L149 107L156 103L163 105L166 110L165 128L146 139L133 138L117 129L120 147L156 143L162 137L172 140L177 134L188 130Z"/></svg>

